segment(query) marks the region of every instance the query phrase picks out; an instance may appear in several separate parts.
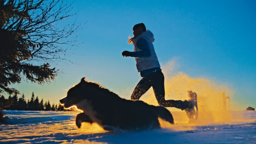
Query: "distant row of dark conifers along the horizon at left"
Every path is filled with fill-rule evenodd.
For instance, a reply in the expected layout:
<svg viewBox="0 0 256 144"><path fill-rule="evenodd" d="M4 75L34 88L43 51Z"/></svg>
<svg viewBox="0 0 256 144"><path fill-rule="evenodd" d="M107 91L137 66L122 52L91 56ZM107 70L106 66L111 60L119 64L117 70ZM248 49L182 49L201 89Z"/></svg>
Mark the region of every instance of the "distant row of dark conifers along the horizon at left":
<svg viewBox="0 0 256 144"><path fill-rule="evenodd" d="M23 94L18 98L17 95L9 96L8 99L3 95L0 97L0 109L4 110L29 110L29 111L72 111L73 109L64 109L64 107L59 104L51 105L50 101L45 101L41 99L39 102L38 97L35 98L34 92L30 100L26 101L25 95Z"/></svg>

